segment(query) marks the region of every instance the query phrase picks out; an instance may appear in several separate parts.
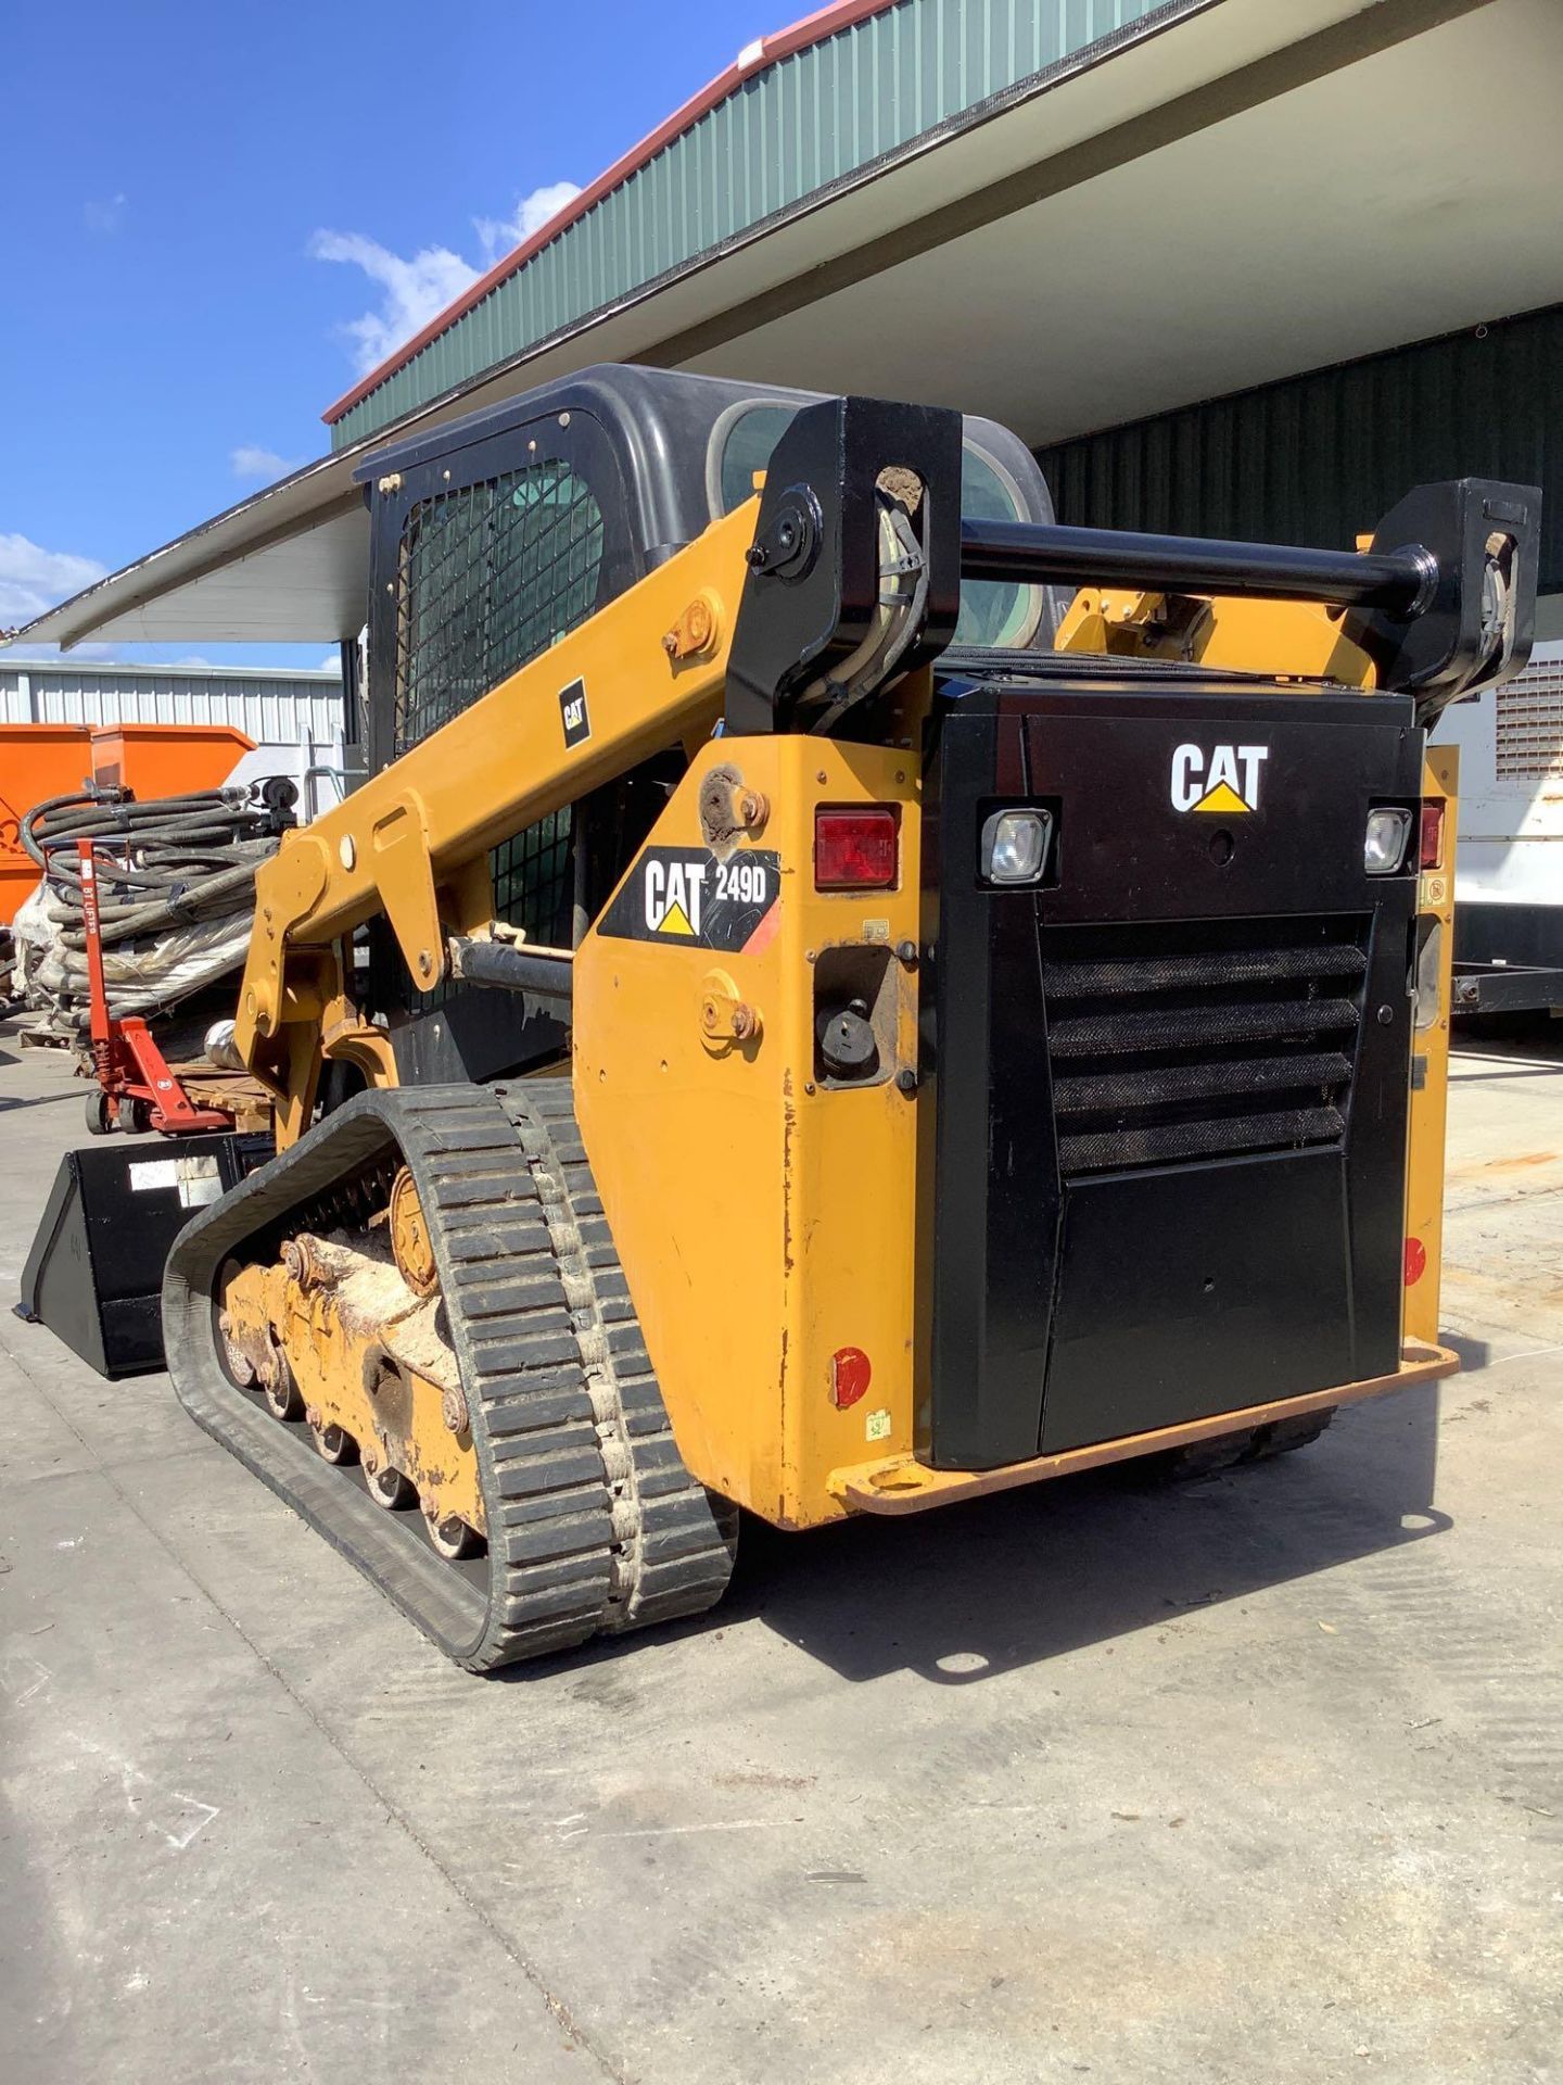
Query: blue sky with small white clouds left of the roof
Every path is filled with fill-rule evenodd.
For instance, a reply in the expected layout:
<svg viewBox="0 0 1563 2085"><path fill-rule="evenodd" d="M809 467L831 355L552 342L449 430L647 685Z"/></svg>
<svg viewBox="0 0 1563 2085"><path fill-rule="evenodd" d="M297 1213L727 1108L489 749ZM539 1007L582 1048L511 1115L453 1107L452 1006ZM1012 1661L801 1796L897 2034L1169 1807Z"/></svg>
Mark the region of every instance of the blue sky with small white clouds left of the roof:
<svg viewBox="0 0 1563 2085"><path fill-rule="evenodd" d="M802 13L8 8L0 626L323 455L321 411L398 334ZM321 648L267 657L315 665Z"/></svg>

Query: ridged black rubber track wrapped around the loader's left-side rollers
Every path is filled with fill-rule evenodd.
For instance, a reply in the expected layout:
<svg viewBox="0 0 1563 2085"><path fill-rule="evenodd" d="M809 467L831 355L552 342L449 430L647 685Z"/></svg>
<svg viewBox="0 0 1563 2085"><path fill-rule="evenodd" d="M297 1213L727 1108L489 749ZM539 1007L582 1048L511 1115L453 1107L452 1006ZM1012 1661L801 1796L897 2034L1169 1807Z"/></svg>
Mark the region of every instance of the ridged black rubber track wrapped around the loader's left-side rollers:
<svg viewBox="0 0 1563 2085"><path fill-rule="evenodd" d="M565 1149L575 1153L569 1082L548 1084L565 1099L565 1120L556 1099L548 1120L567 1122ZM706 1524L688 1528L700 1566L681 1576L675 1568L667 1597L661 1583L648 1585L640 1460L619 1445L634 1432L636 1403L615 1409L613 1372L604 1395L592 1339L619 1307L617 1259L609 1245L602 1301L592 1274L561 1266L561 1209L546 1209L544 1195L584 1153L556 1159L550 1132L536 1122L531 1140L536 1149L523 1149L498 1095L483 1086L356 1095L194 1218L169 1255L163 1289L169 1374L190 1416L473 1672L571 1649L604 1628L696 1612L721 1597L731 1570L727 1543L717 1572L709 1532L717 1512L706 1503ZM465 1564L433 1553L421 1514L383 1512L356 1472L325 1464L308 1430L275 1420L219 1357L213 1295L223 1261L244 1257L252 1241L256 1257L269 1259L313 1203L398 1161L413 1172L433 1241L488 1516L488 1553ZM634 1324L634 1314L617 1322ZM627 1387L642 1395L634 1374ZM654 1378L650 1395L661 1414ZM686 1505L692 1489L706 1501L681 1462L677 1474Z"/></svg>

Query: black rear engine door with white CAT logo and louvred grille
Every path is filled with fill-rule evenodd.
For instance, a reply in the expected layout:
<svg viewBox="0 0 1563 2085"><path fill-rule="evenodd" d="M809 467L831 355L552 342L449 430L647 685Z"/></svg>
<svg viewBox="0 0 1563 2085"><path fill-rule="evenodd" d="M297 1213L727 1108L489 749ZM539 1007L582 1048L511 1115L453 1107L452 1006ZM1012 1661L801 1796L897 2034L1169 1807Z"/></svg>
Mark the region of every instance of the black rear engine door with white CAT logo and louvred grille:
<svg viewBox="0 0 1563 2085"><path fill-rule="evenodd" d="M925 1462L1396 1368L1421 751L1398 696L942 688ZM979 872L1007 805L1052 813L1040 886ZM1413 813L1390 876L1363 865L1380 805Z"/></svg>

